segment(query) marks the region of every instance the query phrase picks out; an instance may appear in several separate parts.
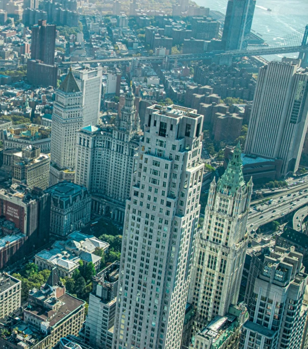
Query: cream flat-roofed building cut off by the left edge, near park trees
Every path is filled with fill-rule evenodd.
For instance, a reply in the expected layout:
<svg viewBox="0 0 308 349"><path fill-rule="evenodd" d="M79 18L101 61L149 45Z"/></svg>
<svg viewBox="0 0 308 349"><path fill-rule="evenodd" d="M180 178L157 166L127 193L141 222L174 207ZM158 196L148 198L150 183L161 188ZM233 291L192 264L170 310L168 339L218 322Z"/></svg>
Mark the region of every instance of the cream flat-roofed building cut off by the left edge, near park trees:
<svg viewBox="0 0 308 349"><path fill-rule="evenodd" d="M21 305L22 282L7 273L0 274L0 319Z"/></svg>

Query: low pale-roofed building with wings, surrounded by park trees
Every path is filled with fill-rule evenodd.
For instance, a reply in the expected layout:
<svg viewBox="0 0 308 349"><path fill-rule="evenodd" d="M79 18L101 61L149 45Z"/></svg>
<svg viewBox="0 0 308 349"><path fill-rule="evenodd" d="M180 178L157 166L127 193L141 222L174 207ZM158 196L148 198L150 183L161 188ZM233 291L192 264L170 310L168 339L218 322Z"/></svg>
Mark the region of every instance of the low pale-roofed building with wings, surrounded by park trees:
<svg viewBox="0 0 308 349"><path fill-rule="evenodd" d="M101 257L93 254L96 248L107 251L109 244L84 235L78 231L68 236L66 241L55 241L51 249L44 249L35 255L35 264L39 270L57 268L60 277L71 277L79 267L79 261L84 264L92 262L96 271L100 266Z"/></svg>

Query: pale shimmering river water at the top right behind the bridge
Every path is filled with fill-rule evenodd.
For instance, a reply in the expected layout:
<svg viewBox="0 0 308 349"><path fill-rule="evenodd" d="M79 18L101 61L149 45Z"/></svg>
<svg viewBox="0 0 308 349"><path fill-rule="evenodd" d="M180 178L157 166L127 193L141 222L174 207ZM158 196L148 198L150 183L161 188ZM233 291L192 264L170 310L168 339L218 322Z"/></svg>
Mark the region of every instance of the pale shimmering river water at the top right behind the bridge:
<svg viewBox="0 0 308 349"><path fill-rule="evenodd" d="M209 7L225 14L228 0L194 0L199 6ZM272 11L267 9L271 8ZM308 24L308 0L257 0L252 29L261 34L265 42L283 43L282 37L302 29ZM298 39L297 44L300 39ZM272 60L281 57L266 56ZM288 54L297 57L297 54Z"/></svg>

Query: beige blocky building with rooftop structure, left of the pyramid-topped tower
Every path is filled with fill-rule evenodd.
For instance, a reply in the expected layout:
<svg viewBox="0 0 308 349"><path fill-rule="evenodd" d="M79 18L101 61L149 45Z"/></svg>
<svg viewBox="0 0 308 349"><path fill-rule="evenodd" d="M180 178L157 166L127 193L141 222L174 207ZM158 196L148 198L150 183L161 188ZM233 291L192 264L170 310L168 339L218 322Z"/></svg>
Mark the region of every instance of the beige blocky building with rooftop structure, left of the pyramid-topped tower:
<svg viewBox="0 0 308 349"><path fill-rule="evenodd" d="M49 161L49 156L40 153L38 147L27 146L14 153L12 183L46 189L49 182Z"/></svg>

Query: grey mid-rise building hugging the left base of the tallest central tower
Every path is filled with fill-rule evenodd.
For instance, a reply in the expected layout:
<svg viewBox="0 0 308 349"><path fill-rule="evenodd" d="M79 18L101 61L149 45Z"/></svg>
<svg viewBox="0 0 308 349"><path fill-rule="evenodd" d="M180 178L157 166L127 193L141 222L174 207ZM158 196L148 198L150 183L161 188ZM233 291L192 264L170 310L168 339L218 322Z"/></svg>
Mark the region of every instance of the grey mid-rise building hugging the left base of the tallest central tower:
<svg viewBox="0 0 308 349"><path fill-rule="evenodd" d="M114 262L93 278L89 312L85 327L79 334L93 348L112 348L119 266L119 262Z"/></svg>

